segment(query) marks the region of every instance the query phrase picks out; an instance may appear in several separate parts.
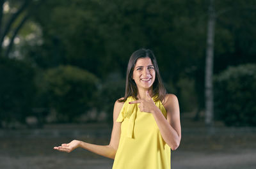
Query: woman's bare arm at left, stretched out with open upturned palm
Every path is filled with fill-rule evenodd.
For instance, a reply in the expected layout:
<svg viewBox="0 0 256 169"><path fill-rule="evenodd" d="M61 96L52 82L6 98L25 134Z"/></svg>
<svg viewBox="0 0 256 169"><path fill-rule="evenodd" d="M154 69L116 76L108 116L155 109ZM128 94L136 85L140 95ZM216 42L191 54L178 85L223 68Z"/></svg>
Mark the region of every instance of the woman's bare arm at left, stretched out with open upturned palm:
<svg viewBox="0 0 256 169"><path fill-rule="evenodd" d="M116 122L116 119L122 109L124 103L120 103L118 101L115 102L114 110L113 110L113 129L111 133L111 140L109 145L95 145L92 143L86 143L79 140L73 140L70 143L63 143L61 146L54 147L54 149L63 152L71 152L77 147L81 147L88 151L94 152L95 154L99 154L100 156L104 156L106 158L115 159L116 151L118 148L120 134L121 134L121 122Z"/></svg>

